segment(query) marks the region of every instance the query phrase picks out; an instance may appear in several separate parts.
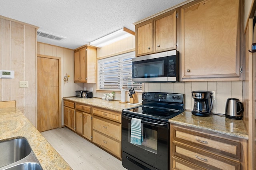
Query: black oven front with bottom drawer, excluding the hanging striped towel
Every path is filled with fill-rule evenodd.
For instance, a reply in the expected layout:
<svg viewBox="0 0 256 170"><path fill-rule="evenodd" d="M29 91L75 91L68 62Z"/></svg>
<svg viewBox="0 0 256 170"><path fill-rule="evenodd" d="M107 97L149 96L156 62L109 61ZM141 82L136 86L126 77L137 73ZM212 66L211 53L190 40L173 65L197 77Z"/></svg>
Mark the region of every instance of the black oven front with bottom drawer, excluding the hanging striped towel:
<svg viewBox="0 0 256 170"><path fill-rule="evenodd" d="M131 144L131 119L142 120L142 145ZM168 170L169 124L122 113L122 165L128 170Z"/></svg>

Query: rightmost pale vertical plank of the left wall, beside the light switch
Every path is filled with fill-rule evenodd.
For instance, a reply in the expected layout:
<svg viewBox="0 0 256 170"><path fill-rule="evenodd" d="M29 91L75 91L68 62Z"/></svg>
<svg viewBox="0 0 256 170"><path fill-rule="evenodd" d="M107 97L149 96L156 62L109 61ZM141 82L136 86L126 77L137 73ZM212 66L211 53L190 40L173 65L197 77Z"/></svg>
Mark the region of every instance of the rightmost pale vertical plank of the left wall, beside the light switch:
<svg viewBox="0 0 256 170"><path fill-rule="evenodd" d="M36 125L37 113L37 100L36 100L36 39L37 28L25 25L25 77L24 80L28 81L28 88L25 90L25 114L28 120ZM34 41L33 41L34 40Z"/></svg>

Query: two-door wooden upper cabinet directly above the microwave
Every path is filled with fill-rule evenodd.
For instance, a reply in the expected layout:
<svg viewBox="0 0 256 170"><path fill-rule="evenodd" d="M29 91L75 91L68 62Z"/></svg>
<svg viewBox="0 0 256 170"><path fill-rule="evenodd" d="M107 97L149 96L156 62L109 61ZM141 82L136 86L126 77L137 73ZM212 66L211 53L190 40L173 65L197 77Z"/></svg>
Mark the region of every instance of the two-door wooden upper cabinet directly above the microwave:
<svg viewBox="0 0 256 170"><path fill-rule="evenodd" d="M136 56L176 49L176 10L135 25Z"/></svg>

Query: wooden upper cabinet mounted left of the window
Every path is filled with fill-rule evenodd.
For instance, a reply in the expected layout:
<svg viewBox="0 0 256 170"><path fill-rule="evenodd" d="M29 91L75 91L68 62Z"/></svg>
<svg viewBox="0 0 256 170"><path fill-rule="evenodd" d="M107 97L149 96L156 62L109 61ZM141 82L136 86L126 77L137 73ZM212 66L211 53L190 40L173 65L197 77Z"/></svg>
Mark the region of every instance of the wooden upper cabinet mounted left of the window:
<svg viewBox="0 0 256 170"><path fill-rule="evenodd" d="M97 49L84 45L74 50L74 82L96 83Z"/></svg>

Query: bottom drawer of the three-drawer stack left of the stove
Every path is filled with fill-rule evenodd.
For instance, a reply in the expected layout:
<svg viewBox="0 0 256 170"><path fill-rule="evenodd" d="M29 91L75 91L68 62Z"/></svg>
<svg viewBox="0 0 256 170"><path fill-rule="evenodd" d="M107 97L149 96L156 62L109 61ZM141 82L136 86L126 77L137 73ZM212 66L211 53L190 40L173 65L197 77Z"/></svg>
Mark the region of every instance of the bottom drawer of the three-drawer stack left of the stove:
<svg viewBox="0 0 256 170"><path fill-rule="evenodd" d="M93 130L92 140L94 143L102 146L112 154L121 158L121 142L117 142L96 130Z"/></svg>

